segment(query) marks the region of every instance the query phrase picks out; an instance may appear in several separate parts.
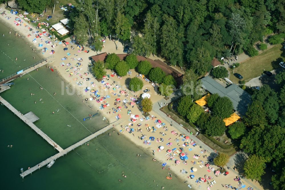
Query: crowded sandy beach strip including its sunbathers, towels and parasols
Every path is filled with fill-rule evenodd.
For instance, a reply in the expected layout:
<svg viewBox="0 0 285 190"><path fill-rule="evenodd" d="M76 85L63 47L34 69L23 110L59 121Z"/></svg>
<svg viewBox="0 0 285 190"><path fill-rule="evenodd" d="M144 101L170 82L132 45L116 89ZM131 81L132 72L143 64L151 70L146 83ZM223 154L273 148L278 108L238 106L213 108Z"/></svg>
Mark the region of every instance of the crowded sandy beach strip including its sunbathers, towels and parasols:
<svg viewBox="0 0 285 190"><path fill-rule="evenodd" d="M2 9L5 10L4 7ZM166 177L177 176L186 185L192 185L193 189L223 189L227 187L248 189L249 187L253 187L247 180L244 180L241 176L237 176L232 171L229 171L227 175L218 174L217 169L219 167L213 165L212 161L217 154L213 150L205 151L203 147L200 147L200 145L192 140L192 136L189 133L183 134L170 126L171 123L165 119L166 116L162 117L156 112L151 111L148 118L143 117L137 106L138 104L136 104L138 100L136 97L141 96L143 92L130 92L127 90L125 84L127 78L138 75L135 70L131 70L131 75L122 78L118 78L116 75L113 76L112 74L114 73L107 70L107 75L110 78L106 76L103 81L98 82L90 72L91 67L88 66L91 62L89 57L96 55L96 52L87 47L84 47L84 50L89 50L89 53L80 51L74 44L69 44L68 46L63 46L60 42L46 44L46 40L52 41L46 36L37 38L37 42L32 43L35 35L28 37L31 34L31 31L28 29L28 23L25 23L27 27L24 24L16 26L14 21L17 15L12 15L7 10L6 13L11 18L8 20L0 16L1 22L4 22L12 31L21 34L28 43L27 48L32 46L32 48L36 48L38 53L42 54L42 48L47 47L48 51L42 54L43 57L50 56L51 50L54 50L54 61L48 64L47 67L40 69L49 69L50 72L58 72L61 78L68 83L67 86L62 86L62 92L54 92L56 96L60 96L61 93L76 92L82 101L86 102L87 106L95 111L99 110L109 123L116 121L118 118L123 120L119 126L114 126L116 133L113 130L109 131L110 136L124 135L144 149L146 153L152 154L153 158L155 158L153 161L161 165L161 170L169 169L170 174L168 176L161 176L162 178L168 180ZM37 31L34 27L32 29L33 31ZM11 35L13 35L13 32ZM41 39L44 40L41 41ZM66 39L66 41L71 42L70 39ZM42 43L43 47L38 47L39 43ZM52 48L53 44L57 44L57 47ZM123 53L123 45L121 43L119 43L116 50L114 42L106 39L104 46L102 52ZM65 51L64 48L68 49ZM27 74L24 77L29 78L30 76ZM158 104L163 97L157 94L154 90L155 88L146 81L144 81L143 90L145 88L150 89L149 93L152 102ZM91 96L95 96L94 92L96 91L100 97L95 99L99 102L91 98ZM103 97L105 99L100 100ZM96 120L102 120L103 118L92 119L92 122L96 122ZM180 155L184 157L184 161L180 159ZM140 155L137 155L135 152L133 156L138 157L138 160L141 159ZM187 157L188 159L186 160ZM242 178L240 181L234 180L239 177ZM227 187L222 187L224 184ZM257 189L262 189L258 183L254 183L253 185ZM187 188L186 186L185 189Z"/></svg>

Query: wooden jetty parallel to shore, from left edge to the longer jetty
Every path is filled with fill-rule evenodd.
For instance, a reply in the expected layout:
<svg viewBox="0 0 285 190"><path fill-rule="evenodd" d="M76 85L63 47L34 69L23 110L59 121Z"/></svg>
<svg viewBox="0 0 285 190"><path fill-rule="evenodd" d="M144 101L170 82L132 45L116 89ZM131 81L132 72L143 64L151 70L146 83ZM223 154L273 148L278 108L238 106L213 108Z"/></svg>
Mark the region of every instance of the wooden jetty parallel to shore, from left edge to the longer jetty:
<svg viewBox="0 0 285 190"><path fill-rule="evenodd" d="M14 108L9 102L4 100L1 96L0 96L0 102L4 104L9 110L11 110L15 115L17 115L21 120L23 120L28 126L30 126L37 134L39 134L42 138L44 138L44 140L46 140L55 149L57 149L59 152L63 151L62 147L60 147L56 142L54 142L51 138L49 138L44 132L42 132L37 126L35 126L32 123L32 121L28 120L28 118L25 115L21 114L21 112L16 110L16 108ZM38 118L38 117L35 118L31 114L30 116L33 120Z"/></svg>

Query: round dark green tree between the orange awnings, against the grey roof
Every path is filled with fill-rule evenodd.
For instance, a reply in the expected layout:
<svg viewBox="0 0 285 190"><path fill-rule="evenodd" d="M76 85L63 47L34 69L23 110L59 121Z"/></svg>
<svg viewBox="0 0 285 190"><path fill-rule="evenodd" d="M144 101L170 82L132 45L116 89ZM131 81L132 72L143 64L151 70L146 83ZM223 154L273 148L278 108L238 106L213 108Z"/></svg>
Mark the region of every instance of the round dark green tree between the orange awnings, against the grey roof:
<svg viewBox="0 0 285 190"><path fill-rule="evenodd" d="M222 119L229 118L233 113L233 102L226 96L220 97L213 106L213 114Z"/></svg>

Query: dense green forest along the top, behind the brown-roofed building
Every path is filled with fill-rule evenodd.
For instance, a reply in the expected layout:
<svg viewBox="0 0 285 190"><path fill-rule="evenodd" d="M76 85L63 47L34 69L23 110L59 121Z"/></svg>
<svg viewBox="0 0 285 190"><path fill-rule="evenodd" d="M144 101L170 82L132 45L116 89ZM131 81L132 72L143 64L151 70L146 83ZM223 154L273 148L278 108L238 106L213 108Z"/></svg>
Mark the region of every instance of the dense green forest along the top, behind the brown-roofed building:
<svg viewBox="0 0 285 190"><path fill-rule="evenodd" d="M81 0L69 24L82 44L113 35L125 42L131 31L135 54L157 54L199 76L213 57L245 52L271 33L285 32L285 0ZM97 46L100 50L100 46Z"/></svg>

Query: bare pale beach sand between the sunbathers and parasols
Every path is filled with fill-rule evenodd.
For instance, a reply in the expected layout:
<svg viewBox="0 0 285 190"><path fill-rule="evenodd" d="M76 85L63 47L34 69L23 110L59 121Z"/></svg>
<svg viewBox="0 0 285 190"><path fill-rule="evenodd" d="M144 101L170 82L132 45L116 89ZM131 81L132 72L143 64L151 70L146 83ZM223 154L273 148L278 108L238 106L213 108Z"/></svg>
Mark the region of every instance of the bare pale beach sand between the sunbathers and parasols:
<svg viewBox="0 0 285 190"><path fill-rule="evenodd" d="M3 7L2 7L3 8ZM4 8L3 8L4 10ZM3 11L2 10L2 11ZM1 12L1 11L0 11ZM34 39L34 35L32 35L32 37L27 37L28 34L31 34L31 32L28 30L28 27L24 27L24 25L22 26L16 26L14 25L14 20L15 20L15 15L12 15L11 13L9 13L8 11L6 11L7 16L11 17L11 19L7 20L5 19L5 17L1 17L0 19L1 21L3 21L5 23L5 25L9 26L13 31L17 31L19 34L21 34L23 36L23 38L25 39L25 41L27 41L29 44L32 44L33 48L37 48L37 50L39 52L41 52L41 48L38 47L38 43L41 43L40 39L37 39L37 43L33 44L32 43L32 39ZM28 23L26 23L28 25ZM32 27L34 30L35 28ZM5 34L6 35L6 34ZM43 39L45 40L50 40L46 37L43 37ZM66 39L66 41L70 42L70 39ZM118 43L115 42L115 43ZM104 48L102 49L102 52L107 52L107 53L123 53L123 45L121 43L118 44L118 48L116 50L116 45L114 42L109 41L109 39L106 39L106 42L104 43ZM203 150L202 147L199 146L183 146L184 143L191 142L191 136L188 140L186 140L185 138L179 137L180 132L176 130L176 132L178 133L177 136L175 136L174 134L172 134L171 132L174 131L175 129L173 127L170 126L170 123L167 123L166 121L163 120L163 118L159 118L157 116L157 118L155 118L154 120L152 120L150 118L150 120L140 120L142 118L142 113L141 111L137 108L137 106L135 105L134 108L132 108L132 106L127 105L128 108L124 108L124 106L122 106L122 100L123 99L127 99L129 102L131 102L130 97L134 97L132 92L129 92L129 90L126 90L126 84L125 81L127 78L129 77L135 77L137 75L137 73L132 70L132 75L129 76L124 76L122 79L117 78L117 76L111 77L109 80L105 79L106 83L109 84L113 84L111 86L110 89L105 88L104 84L102 84L101 82L98 82L97 80L94 79L94 77L92 76L91 72L90 72L90 67L88 67L88 63L90 63L91 61L88 59L90 56L96 55L97 53L94 52L93 50L90 50L89 53L86 53L84 51L82 52L78 52L78 48L76 48L76 45L73 45L75 47L74 50L72 50L70 47L72 44L70 44L68 46L68 50L64 51L63 48L64 46L58 44L57 47L52 48L51 45L52 44L45 44L43 41L44 46L43 47L48 47L49 51L46 52L45 54L42 54L43 57L47 57L50 56L49 52L50 50L54 50L55 54L54 54L54 61L50 64L48 64L47 66L49 66L50 68L53 68L54 72L58 72L58 74L62 77L62 79L64 81L68 81L68 88L66 89L65 86L62 86L62 92L57 92L56 96L60 96L60 93L67 93L67 91L70 93L72 90L74 89L76 93L78 93L78 96L80 96L80 98L82 99L82 101L84 101L85 98L90 98L90 92L87 91L85 92L84 89L86 89L87 87L90 87L91 89L94 90L98 90L99 94L101 95L101 97L105 96L105 95L109 95L110 98L105 99L106 103L109 102L109 106L107 106L105 109L100 110L99 107L101 106L101 104L103 104L103 102L97 103L95 100L93 101L86 101L87 106L89 106L91 109L97 111L99 110L99 112L102 113L102 116L104 116L109 123L112 123L114 121L116 121L116 116L117 114L121 114L121 120L123 120L123 122L121 123L120 126L115 126L115 130L116 133L112 133L112 131L110 131L110 135L118 135L117 133L124 135L125 137L127 137L128 139L130 139L134 144L138 145L139 147L141 147L146 153L148 154L153 154L153 157L156 158L156 162L158 164L162 164L164 162L166 162L166 167L164 169L168 169L167 167L169 167L169 172L172 175L176 175L178 178L180 178L181 181L185 182L186 184L191 184L193 189L207 189L207 187L209 187L209 189L222 189L223 187L221 186L221 184L231 184L233 187L239 187L238 186L238 182L234 181L233 179L236 178L236 175L233 172L230 172L228 175L224 176L222 174L219 174L218 177L216 177L214 175L214 171L217 170L219 167L213 165L213 163L210 163L209 167L214 167L214 171L210 171L208 172L207 169L208 167L205 166L205 163L208 161L207 157L210 155L210 152L206 152L206 153L201 153L201 151ZM28 46L29 47L29 46ZM30 47L29 47L30 48ZM89 50L89 48L84 47L84 50ZM70 55L68 56L67 53L70 53ZM74 54L78 54L78 56L74 56ZM63 57L67 57L66 60L61 60ZM83 61L80 62L81 66L76 67L76 63L78 62L77 60L71 60L71 58L82 58ZM157 59L156 57L152 57L152 59ZM162 60L161 58L159 58L160 60ZM162 60L163 61L163 60ZM64 66L61 65L61 63L64 63ZM67 64L70 63L70 66L67 66ZM32 64L32 63L31 63ZM74 67L78 70L78 74L73 74L73 76L69 77L69 73L72 72L72 69L70 69L70 67ZM69 68L69 71L67 72L66 69ZM43 69L49 69L49 68L43 68ZM176 68L177 69L177 68ZM52 71L50 71L52 72ZM90 74L88 74L87 76L84 75L85 72L89 72ZM107 74L111 75L111 71L107 70ZM82 78L81 78L82 77ZM78 78L77 80L74 80ZM91 80L89 81L85 81L86 78L90 78ZM76 84L76 82L82 82L82 85L79 86L78 84ZM115 83L113 83L113 81L115 81ZM94 82L95 86L91 85L91 82ZM113 90L113 88L115 87L115 85L120 85L121 88L120 89L115 89ZM162 96L160 96L159 94L157 94L155 92L154 89L157 89L157 86L155 88L153 88L149 83L147 83L146 81L144 81L144 87L143 90L145 88L150 89L150 95L151 95L151 100L154 104L157 104L159 100L162 99ZM125 98L124 94L121 94L120 91L121 90L126 90L127 92L129 92L129 97ZM116 93L116 95L114 96L113 94ZM140 96L143 92L136 92L134 93L134 95ZM118 95L120 95L120 97L118 97ZM113 105L114 102L116 102L116 98L120 98L121 102L117 105ZM117 108L118 106L121 106L122 109L121 111L118 111L116 113L113 113L112 108ZM130 115L127 114L127 110L131 110L132 114L134 115L139 115L139 118L137 119L137 122L131 122L130 120ZM109 114L109 112L111 114ZM156 113L154 112L150 112L150 115L156 116ZM95 118L94 121L96 122L97 119L103 119L103 118ZM162 123L166 123L165 126L167 126L168 131L165 131L163 127L157 128L156 124L154 124L155 120L161 120ZM132 123L133 126L129 126L129 123ZM141 126L138 127L137 124L141 123ZM150 128L152 128L152 126L156 129L156 132L153 133L151 131L147 131L146 128L147 126L150 126ZM128 133L126 131L127 127L130 128L134 128L136 131L133 133ZM142 132L138 131L138 128L142 129ZM122 131L123 130L123 131ZM161 133L165 133L165 136L162 136ZM145 140L148 140L149 137L153 136L154 137L154 141L151 141L150 145L146 145L143 144L144 140L141 140L140 137L142 135L146 135ZM157 139L163 138L164 142L156 142ZM174 141L175 139L178 139L179 141L176 142ZM185 139L185 140L184 140ZM184 141L182 141L184 140ZM168 147L167 143L172 143L172 146ZM164 146L164 150L159 151L158 147L159 146ZM174 157L173 160L167 160L168 157L166 156L167 154L167 150L168 149L180 149L180 148L184 148L184 151L188 153L188 160L187 160L187 164L183 164L182 160L178 157L179 154L178 153L174 153L171 152L172 156ZM175 154L175 155L174 155ZM195 159L193 158L194 154L200 155L200 158ZM213 153L211 153L213 154ZM203 158L203 156L207 155L205 158ZM134 152L133 156L137 156L137 153ZM138 160L141 159L141 157L138 157ZM180 160L180 164L176 165L174 160ZM151 160L150 160L151 161ZM196 164L191 163L191 161L196 161ZM201 163L198 163L201 162ZM203 163L202 163L203 162ZM200 167L201 165L201 167ZM202 167L203 165L203 167ZM192 167L197 168L196 172L191 172L190 169ZM161 166L161 169L163 169L163 167ZM187 173L184 173L184 171L187 171ZM180 172L180 171L183 171ZM187 178L187 176L189 175L195 175L194 179L189 179ZM208 183L195 183L195 181L197 179L200 179L201 177L204 178L205 175L211 176L213 177L213 179L207 179ZM166 177L166 176L165 176ZM167 180L167 179L166 179ZM216 183L213 183L212 187L210 187L211 182L214 181ZM250 187L251 185L248 184L247 182L245 182L244 180L241 180L244 182L244 184L247 187ZM262 189L262 187L260 187L260 185L258 183L254 184L256 187L258 187L258 189ZM188 188L188 187L187 187Z"/></svg>

